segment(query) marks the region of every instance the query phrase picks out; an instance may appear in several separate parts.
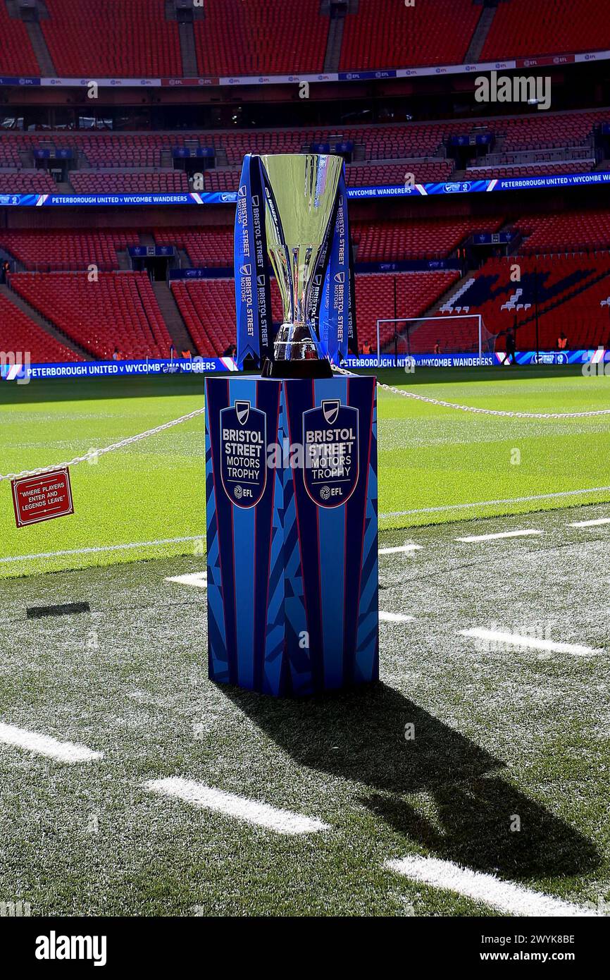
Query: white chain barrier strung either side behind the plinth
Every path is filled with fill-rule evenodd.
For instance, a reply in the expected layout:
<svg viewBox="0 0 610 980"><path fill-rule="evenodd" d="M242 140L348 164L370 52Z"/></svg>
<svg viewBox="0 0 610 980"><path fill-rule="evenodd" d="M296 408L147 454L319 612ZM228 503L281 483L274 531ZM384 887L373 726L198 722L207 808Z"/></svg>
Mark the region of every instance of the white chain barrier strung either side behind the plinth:
<svg viewBox="0 0 610 980"><path fill-rule="evenodd" d="M347 370L346 368L333 366L333 370L335 373L344 374L347 377L358 377L354 371ZM472 405L457 405L455 402L444 402L440 398L418 395L414 391L404 391L402 388L395 388L394 385L386 384L384 381L377 381L377 385L385 391L391 391L393 395L399 395L401 398L414 398L416 401L426 402L428 405L439 405L444 409L456 409L458 412L473 412L483 416L499 416L504 418L590 418L595 416L610 416L610 409L598 409L591 412L508 412L501 409L481 409ZM148 429L146 432L139 432L137 435L130 435L126 439L121 439L120 442L115 442L112 446L106 446L104 449L89 450L84 456L76 456L67 463L58 463L54 466L39 466L37 469L24 469L21 473L0 473L0 483L3 480L22 479L25 476L39 476L42 473L53 472L55 469L65 469L68 466L76 466L78 463L87 463L98 456L104 456L105 453L113 453L116 449L131 446L141 439L147 439L150 435L156 435L158 432L164 432L165 429L172 428L174 425L180 425L182 422L189 421L191 418L202 416L205 411L205 408L196 409L194 412L189 412L186 416L172 418L171 421L164 422L163 425L157 425L155 428Z"/></svg>

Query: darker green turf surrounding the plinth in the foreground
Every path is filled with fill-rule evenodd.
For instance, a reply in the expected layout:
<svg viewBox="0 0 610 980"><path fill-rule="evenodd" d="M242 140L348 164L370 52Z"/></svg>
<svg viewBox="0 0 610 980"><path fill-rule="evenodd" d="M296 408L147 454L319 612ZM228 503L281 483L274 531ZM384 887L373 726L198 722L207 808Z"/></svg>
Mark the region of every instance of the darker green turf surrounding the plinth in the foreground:
<svg viewBox="0 0 610 980"><path fill-rule="evenodd" d="M481 544L456 541L472 521L410 530L420 550L380 557L381 609L413 615L380 623L382 683L303 701L208 680L205 590L166 581L205 556L0 582L0 722L104 754L0 745L3 900L32 915L500 914L387 867L436 858L610 907L608 525L573 519ZM90 612L26 618L73 602ZM604 653L460 635L493 624ZM327 829L288 837L147 790L173 777Z"/></svg>

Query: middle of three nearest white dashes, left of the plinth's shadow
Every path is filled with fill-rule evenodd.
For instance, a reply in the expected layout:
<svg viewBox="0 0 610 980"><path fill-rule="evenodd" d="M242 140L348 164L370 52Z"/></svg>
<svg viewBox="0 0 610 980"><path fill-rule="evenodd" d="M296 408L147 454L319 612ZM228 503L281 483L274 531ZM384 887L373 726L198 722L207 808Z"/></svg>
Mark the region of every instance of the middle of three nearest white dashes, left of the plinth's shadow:
<svg viewBox="0 0 610 980"><path fill-rule="evenodd" d="M222 790L215 790L192 779L171 776L168 779L152 779L144 786L151 793L176 797L178 800L184 800L185 803L193 804L194 807L225 813L246 823L254 823L258 827L274 830L278 834L311 834L318 830L330 830L327 823L314 817L271 807L267 803L258 803L257 800L247 800L233 793L224 793Z"/></svg>

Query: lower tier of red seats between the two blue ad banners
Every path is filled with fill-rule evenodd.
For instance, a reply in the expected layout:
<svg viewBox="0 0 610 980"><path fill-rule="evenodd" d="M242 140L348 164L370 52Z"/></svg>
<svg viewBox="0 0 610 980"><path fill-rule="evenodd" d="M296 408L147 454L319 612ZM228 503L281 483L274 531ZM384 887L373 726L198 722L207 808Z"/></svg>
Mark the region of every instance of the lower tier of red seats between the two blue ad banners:
<svg viewBox="0 0 610 980"><path fill-rule="evenodd" d="M516 235L517 254L487 259L477 268L476 236L500 228ZM229 225L168 225L145 233L148 242L173 246L183 268L232 266ZM159 301L169 287L186 330L182 336L192 339L193 350L206 357L222 354L234 340L233 279L225 271L221 278L162 281L153 287L147 272L125 271L130 266L127 250L141 244L141 234L130 228L7 229L0 231L0 250L13 264L11 287L32 312L50 320L95 358L112 357L115 347L123 358L165 356L172 343L171 320L164 322L166 306L160 307ZM356 220L352 235L358 266L454 258L457 249L462 262L466 249L469 256L470 268L461 271L358 271L358 340L365 349L376 348L378 319L426 316L435 319L409 328L412 350L418 345L421 353L432 352L437 343L442 350L470 350L468 331L475 330L474 321L451 321L465 314L482 316L498 349L505 344L506 330L515 326L520 348L555 347L562 330L572 343L591 346L608 340L604 301L610 295L610 211L532 214L510 223L501 216ZM581 251L585 249L589 254ZM593 249L603 251L595 255ZM510 277L515 264L520 281ZM99 282L87 279L84 270L91 265L100 271ZM538 334L533 313L537 303ZM279 322L275 283L272 309ZM382 324L382 346L392 347L394 333L394 324ZM33 360L57 354L41 343L37 326L31 337Z"/></svg>

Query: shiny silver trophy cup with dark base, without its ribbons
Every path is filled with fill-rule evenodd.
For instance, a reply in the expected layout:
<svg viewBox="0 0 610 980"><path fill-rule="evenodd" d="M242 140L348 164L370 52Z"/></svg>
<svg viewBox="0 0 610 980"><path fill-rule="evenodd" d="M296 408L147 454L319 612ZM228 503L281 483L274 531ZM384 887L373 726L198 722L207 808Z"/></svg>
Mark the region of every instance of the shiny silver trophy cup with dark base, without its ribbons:
<svg viewBox="0 0 610 980"><path fill-rule="evenodd" d="M284 322L277 331L268 377L331 377L313 339L314 278L329 246L343 158L316 153L260 157L267 251L279 286ZM316 274L317 270L317 274Z"/></svg>

